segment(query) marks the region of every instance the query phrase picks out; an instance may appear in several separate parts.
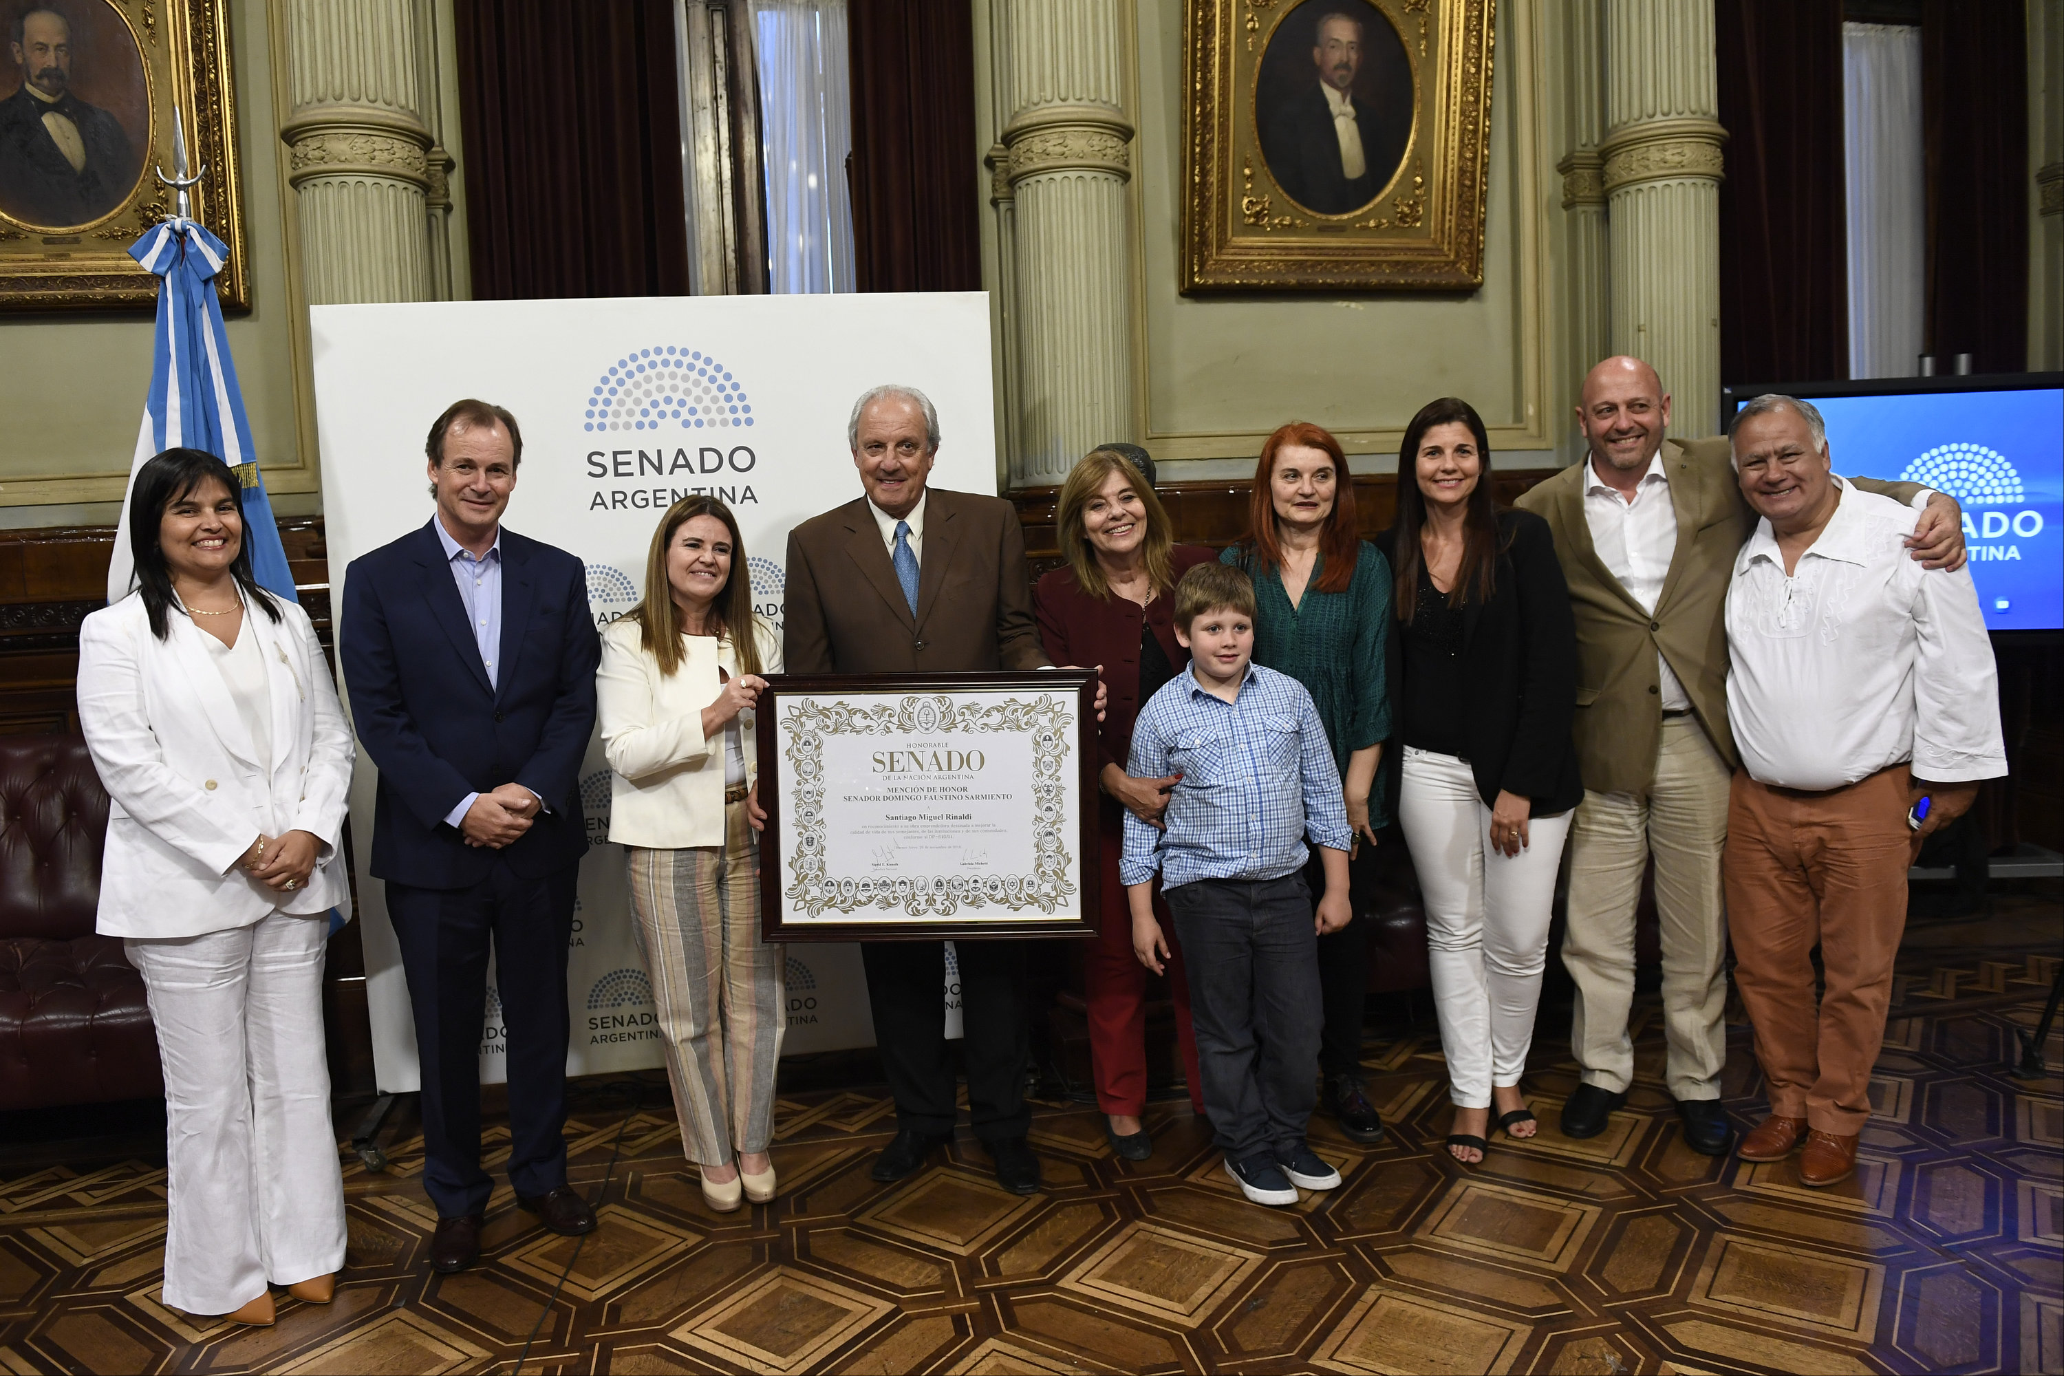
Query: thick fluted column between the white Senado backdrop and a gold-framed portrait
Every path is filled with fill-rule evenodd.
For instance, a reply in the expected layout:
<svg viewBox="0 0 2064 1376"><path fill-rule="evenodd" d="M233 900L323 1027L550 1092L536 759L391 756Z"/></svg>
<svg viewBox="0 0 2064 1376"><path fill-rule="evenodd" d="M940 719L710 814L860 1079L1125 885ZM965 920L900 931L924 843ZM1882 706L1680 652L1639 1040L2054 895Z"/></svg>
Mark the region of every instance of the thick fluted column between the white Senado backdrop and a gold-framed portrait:
<svg viewBox="0 0 2064 1376"><path fill-rule="evenodd" d="M1123 0L995 8L1007 83L999 182L1011 200L1015 444L1011 485L1059 483L1077 458L1133 439L1133 124Z"/></svg>

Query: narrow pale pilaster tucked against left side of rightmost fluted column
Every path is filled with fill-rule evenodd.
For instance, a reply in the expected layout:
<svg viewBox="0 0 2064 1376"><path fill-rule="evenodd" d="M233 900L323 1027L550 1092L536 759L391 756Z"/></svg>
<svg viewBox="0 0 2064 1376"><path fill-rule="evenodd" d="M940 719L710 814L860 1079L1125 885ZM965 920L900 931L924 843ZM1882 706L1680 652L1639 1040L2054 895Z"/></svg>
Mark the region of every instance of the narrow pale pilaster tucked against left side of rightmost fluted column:
<svg viewBox="0 0 2064 1376"><path fill-rule="evenodd" d="M1562 43L1562 130L1569 153L1554 169L1562 173L1562 208L1569 212L1569 272L1565 274L1569 359L1565 371L1581 380L1612 347L1606 159L1598 151L1606 136L1604 0L1567 0Z"/></svg>

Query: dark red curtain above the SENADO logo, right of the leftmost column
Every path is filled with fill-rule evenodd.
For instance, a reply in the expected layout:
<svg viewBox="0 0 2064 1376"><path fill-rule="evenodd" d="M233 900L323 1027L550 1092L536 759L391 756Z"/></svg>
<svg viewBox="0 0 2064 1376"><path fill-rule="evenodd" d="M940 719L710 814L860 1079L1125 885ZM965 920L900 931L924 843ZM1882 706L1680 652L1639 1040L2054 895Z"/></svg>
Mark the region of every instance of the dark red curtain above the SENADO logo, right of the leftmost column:
<svg viewBox="0 0 2064 1376"><path fill-rule="evenodd" d="M687 295L667 0L456 0L477 299Z"/></svg>

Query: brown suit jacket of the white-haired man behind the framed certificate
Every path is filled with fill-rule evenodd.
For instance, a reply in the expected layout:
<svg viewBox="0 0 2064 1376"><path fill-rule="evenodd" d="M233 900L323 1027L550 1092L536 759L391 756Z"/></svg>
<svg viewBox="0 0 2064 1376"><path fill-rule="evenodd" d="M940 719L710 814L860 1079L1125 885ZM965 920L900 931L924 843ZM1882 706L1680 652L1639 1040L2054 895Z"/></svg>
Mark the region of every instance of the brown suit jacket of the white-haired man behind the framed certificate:
<svg viewBox="0 0 2064 1376"><path fill-rule="evenodd" d="M916 615L867 497L788 532L782 660L793 675L916 675L1049 664L1018 510L929 489Z"/></svg>

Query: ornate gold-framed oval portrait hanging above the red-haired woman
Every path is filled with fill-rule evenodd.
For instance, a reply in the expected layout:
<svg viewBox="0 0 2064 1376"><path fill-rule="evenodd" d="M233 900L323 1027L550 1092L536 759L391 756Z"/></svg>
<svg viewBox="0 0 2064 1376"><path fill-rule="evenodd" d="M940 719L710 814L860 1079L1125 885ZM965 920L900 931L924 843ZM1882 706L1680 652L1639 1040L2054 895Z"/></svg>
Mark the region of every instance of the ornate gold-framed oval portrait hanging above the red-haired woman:
<svg viewBox="0 0 2064 1376"><path fill-rule="evenodd" d="M1189 0L1183 291L1484 283L1496 0Z"/></svg>

